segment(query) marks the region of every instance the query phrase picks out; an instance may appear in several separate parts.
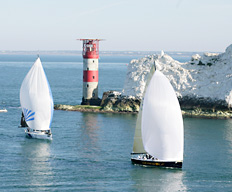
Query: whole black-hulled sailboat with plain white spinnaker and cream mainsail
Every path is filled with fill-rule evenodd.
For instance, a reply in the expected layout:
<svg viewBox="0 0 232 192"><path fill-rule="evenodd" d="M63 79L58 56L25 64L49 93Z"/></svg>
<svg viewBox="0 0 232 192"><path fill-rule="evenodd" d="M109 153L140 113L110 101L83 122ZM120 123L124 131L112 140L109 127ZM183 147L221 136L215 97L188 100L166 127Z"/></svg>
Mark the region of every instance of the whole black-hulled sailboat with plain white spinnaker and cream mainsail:
<svg viewBox="0 0 232 192"><path fill-rule="evenodd" d="M167 77L154 68L140 105L131 161L144 166L182 168L184 127L180 105Z"/></svg>

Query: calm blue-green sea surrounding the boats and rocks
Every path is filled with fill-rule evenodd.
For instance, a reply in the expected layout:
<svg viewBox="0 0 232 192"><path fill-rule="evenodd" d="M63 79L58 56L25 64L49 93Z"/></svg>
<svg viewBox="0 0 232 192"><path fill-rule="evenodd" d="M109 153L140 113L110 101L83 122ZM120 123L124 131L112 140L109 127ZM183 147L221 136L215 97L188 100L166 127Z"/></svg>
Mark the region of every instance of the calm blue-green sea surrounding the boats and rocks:
<svg viewBox="0 0 232 192"><path fill-rule="evenodd" d="M123 89L136 54L99 60L99 97ZM190 54L172 57L189 61ZM133 165L136 114L55 110L53 140L25 137L19 90L36 54L0 54L0 191L232 191L232 119L184 118L182 169ZM55 104L82 98L82 57L40 54Z"/></svg>

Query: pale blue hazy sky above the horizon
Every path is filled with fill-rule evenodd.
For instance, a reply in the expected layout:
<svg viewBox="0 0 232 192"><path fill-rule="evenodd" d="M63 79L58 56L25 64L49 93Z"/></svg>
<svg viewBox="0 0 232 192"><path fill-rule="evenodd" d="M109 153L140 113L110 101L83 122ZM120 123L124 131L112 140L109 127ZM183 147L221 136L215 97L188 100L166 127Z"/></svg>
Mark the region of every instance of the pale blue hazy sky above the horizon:
<svg viewBox="0 0 232 192"><path fill-rule="evenodd" d="M224 52L231 0L0 0L0 50Z"/></svg>

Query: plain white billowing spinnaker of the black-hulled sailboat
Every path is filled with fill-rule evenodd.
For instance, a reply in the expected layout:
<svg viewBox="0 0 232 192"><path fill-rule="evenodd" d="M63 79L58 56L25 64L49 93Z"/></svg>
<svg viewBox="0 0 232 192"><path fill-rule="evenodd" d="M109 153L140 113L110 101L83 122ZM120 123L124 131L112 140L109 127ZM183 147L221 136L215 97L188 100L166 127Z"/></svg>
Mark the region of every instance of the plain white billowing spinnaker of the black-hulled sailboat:
<svg viewBox="0 0 232 192"><path fill-rule="evenodd" d="M144 149L164 161L182 161L183 119L169 80L156 71L147 87L142 111Z"/></svg>

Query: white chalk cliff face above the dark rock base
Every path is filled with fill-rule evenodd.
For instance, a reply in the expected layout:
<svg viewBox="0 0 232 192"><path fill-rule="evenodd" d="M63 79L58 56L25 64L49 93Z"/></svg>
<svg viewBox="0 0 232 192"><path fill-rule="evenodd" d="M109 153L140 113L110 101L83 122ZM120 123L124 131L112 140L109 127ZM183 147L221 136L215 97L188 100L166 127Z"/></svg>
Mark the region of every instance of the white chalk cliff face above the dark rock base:
<svg viewBox="0 0 232 192"><path fill-rule="evenodd" d="M191 61L181 63L165 53L132 60L122 95L142 98L151 66L163 72L179 98L205 98L223 101L232 107L232 45L224 53L193 55Z"/></svg>

